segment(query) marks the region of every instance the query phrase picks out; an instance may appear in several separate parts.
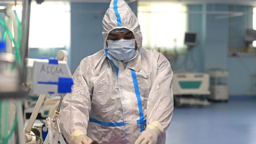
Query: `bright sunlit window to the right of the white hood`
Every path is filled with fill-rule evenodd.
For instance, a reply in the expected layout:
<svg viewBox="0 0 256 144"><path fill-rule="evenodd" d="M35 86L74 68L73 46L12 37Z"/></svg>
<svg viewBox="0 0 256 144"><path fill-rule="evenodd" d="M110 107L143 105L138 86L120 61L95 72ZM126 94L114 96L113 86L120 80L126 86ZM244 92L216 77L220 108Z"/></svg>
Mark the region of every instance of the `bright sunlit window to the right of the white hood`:
<svg viewBox="0 0 256 144"><path fill-rule="evenodd" d="M139 3L138 19L143 46L172 51L184 48L187 27L186 6L172 3Z"/></svg>

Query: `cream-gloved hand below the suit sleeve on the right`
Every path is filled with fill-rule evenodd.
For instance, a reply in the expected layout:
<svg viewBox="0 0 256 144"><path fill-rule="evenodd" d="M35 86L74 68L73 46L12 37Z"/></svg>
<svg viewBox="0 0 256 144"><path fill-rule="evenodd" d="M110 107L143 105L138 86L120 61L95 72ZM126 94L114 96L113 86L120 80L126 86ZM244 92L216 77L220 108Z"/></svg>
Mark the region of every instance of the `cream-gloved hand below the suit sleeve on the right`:
<svg viewBox="0 0 256 144"><path fill-rule="evenodd" d="M163 133L163 127L159 122L151 122L148 124L145 131L143 131L134 144L156 144L158 137Z"/></svg>

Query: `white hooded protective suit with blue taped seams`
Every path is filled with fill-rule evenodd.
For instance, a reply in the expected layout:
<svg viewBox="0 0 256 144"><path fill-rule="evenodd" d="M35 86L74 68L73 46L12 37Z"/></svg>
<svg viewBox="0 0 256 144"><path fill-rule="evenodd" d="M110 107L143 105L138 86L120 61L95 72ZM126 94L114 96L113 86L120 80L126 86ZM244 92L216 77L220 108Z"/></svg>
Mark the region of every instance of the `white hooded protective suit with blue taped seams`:
<svg viewBox="0 0 256 144"><path fill-rule="evenodd" d="M75 130L102 144L134 144L150 122L163 127L173 115L173 72L156 50L142 48L137 17L124 0L112 0L103 19L104 50L83 59L76 69L72 94L63 100L60 126L68 142ZM108 55L108 33L126 28L134 33L137 55L121 62Z"/></svg>

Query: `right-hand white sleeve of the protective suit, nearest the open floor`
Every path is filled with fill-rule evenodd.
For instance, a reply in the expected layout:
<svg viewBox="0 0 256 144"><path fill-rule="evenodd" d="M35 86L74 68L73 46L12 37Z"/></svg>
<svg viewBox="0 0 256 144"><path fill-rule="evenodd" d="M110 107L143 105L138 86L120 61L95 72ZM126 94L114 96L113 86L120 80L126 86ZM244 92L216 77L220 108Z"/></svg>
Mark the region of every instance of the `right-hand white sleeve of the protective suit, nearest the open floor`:
<svg viewBox="0 0 256 144"><path fill-rule="evenodd" d="M157 121L164 132L173 117L173 71L169 61L160 54L158 57L157 76L154 79L147 102L147 124Z"/></svg>

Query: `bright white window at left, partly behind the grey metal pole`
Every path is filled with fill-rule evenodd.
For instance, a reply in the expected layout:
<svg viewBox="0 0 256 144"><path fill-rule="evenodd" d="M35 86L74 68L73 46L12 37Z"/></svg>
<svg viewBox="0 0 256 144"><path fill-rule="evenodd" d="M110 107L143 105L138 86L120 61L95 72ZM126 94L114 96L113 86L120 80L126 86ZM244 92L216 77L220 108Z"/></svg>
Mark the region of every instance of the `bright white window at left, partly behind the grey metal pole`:
<svg viewBox="0 0 256 144"><path fill-rule="evenodd" d="M21 19L21 6L13 6ZM64 48L70 39L70 6L64 2L32 3L30 48Z"/></svg>

